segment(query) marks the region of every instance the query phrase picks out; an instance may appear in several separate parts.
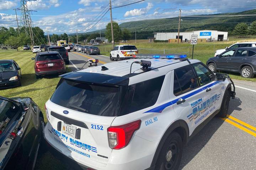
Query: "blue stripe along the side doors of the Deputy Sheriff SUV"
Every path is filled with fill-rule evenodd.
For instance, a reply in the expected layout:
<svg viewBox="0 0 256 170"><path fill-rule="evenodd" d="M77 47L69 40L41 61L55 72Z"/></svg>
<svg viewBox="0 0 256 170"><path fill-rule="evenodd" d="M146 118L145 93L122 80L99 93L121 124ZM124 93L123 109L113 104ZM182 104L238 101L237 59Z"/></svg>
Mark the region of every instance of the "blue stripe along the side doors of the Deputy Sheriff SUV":
<svg viewBox="0 0 256 170"><path fill-rule="evenodd" d="M178 98L176 98L176 99L173 100L173 101L170 101L170 102L167 102L167 103L165 103L165 104L162 104L162 105L160 105L160 106L158 106L158 107L155 107L155 108L153 108L153 109L150 109L149 111L146 111L146 112L144 112L144 113L162 113L162 111L163 111L166 107L169 107L169 106L171 106L172 104L176 104L176 102L178 101L179 98L186 99L186 98L191 97L191 96L193 96L193 95L196 95L196 94L198 94L199 92L201 92L201 91L203 91L203 90L206 90L208 87L212 87L212 86L214 86L215 84L218 84L218 83L219 83L219 81L215 81L214 83L209 84L209 85L207 85L207 86L204 86L204 87L202 87L202 88L200 88L200 89L198 89L198 90L196 90L196 91L193 91L193 92L191 92L190 94L187 94L187 95L182 96L182 97L178 97Z"/></svg>

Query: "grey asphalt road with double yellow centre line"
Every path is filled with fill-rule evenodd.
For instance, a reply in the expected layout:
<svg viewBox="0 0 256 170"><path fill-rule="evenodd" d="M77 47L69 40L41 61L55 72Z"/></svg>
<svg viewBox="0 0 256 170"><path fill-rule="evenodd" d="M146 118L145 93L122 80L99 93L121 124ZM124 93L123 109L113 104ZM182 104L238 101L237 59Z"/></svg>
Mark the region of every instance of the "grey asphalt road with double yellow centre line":
<svg viewBox="0 0 256 170"><path fill-rule="evenodd" d="M70 68L79 69L89 58L99 65L112 62L102 55L70 52ZM256 83L234 80L236 98L229 117L213 118L183 149L180 170L256 170Z"/></svg>

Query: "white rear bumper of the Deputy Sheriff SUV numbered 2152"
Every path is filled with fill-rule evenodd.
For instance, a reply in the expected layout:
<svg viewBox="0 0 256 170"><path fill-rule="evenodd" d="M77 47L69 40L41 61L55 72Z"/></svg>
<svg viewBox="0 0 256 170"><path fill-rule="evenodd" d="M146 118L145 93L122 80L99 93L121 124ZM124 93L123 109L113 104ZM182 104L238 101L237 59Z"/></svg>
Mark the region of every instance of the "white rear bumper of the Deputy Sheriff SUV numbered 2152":
<svg viewBox="0 0 256 170"><path fill-rule="evenodd" d="M131 145L131 143L128 145L129 147L124 148L123 150L113 150L111 157L108 158L108 163L101 163L95 160L92 160L91 158L82 158L84 157L81 153L78 153L79 151L76 150L76 147L65 147L63 142L62 145L60 144L58 137L53 134L51 131L52 125L48 122L44 128L44 138L46 139L46 142L50 145L51 152L54 152L53 155L57 158L60 158L61 161L67 161L73 162L74 165L79 168L77 169L86 169L91 168L95 170L153 170L153 167L150 167L150 164L152 162L154 153L145 155L146 151L143 150L145 148L151 148L151 145L156 145L158 142L149 142L151 145L138 145L138 143L145 141L144 139L134 136L133 140L134 143ZM62 140L61 140L62 141ZM69 141L69 140L68 140ZM147 144L144 143L144 144ZM64 145L63 145L64 144ZM68 144L68 143L67 143ZM135 146L135 147L134 147ZM144 147L143 147L144 146ZM140 149L138 151L137 149ZM70 150L75 150L74 152L71 152ZM78 152L76 152L78 151ZM154 152L154 151L153 151ZM87 154L92 154L91 152L86 152ZM136 156L135 156L136 155ZM143 155L143 157L141 157ZM63 159L64 158L64 159ZM68 158L68 159L67 159ZM75 164L74 164L75 163Z"/></svg>

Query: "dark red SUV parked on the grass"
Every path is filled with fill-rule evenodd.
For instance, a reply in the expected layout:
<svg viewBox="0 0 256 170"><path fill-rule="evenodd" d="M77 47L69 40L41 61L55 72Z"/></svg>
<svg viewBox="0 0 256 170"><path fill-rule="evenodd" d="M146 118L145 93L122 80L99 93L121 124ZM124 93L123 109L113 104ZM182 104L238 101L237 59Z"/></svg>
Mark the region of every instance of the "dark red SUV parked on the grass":
<svg viewBox="0 0 256 170"><path fill-rule="evenodd" d="M38 52L35 60L34 69L36 78L46 74L60 74L66 72L65 62L57 51Z"/></svg>

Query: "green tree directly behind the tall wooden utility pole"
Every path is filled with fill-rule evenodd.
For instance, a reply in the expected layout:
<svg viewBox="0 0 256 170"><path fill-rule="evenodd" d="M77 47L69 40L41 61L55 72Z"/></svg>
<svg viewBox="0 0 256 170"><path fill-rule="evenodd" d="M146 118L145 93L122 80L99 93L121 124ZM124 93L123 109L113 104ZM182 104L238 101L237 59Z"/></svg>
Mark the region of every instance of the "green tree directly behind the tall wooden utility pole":
<svg viewBox="0 0 256 170"><path fill-rule="evenodd" d="M118 26L117 22L113 22L113 33L114 33L114 41L122 39L122 31ZM106 36L106 39L108 39L108 41L110 42L112 41L111 23L108 23L106 26L105 36Z"/></svg>

